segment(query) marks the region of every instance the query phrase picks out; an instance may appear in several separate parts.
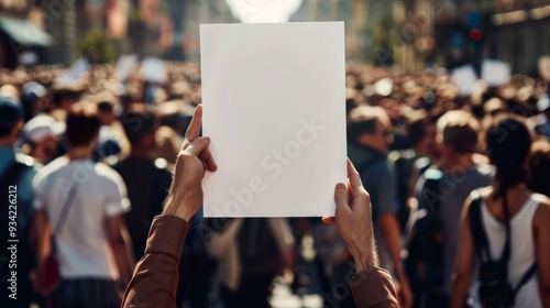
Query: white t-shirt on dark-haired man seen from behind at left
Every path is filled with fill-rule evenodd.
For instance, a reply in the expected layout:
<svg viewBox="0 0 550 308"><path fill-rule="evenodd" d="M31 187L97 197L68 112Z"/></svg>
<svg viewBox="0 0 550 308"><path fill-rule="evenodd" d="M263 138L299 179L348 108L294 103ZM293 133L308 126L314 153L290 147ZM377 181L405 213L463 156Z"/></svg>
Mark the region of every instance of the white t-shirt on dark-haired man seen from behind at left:
<svg viewBox="0 0 550 308"><path fill-rule="evenodd" d="M106 219L130 209L120 175L91 160L59 157L34 177L35 209L45 209L55 230L65 199L76 187L62 230L55 237L62 277L119 277L106 233Z"/></svg>

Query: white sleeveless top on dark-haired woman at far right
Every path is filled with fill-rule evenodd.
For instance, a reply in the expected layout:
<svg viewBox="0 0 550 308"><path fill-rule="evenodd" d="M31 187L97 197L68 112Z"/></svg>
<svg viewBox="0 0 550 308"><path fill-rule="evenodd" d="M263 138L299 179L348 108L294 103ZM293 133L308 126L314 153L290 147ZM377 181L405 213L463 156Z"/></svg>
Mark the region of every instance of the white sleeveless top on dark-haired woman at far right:
<svg viewBox="0 0 550 308"><path fill-rule="evenodd" d="M532 218L535 212L544 199L543 196L534 194L521 209L510 219L512 229L512 255L508 262L508 282L515 288L527 270L536 262L535 239L532 238ZM496 220L483 202L482 220L487 241L490 243L491 257L501 257L506 241L505 224ZM475 274L477 277L477 273ZM535 274L516 294L515 307L542 308L542 300L539 294L537 274ZM472 307L481 307L477 290L480 282L476 279L472 284L471 296Z"/></svg>

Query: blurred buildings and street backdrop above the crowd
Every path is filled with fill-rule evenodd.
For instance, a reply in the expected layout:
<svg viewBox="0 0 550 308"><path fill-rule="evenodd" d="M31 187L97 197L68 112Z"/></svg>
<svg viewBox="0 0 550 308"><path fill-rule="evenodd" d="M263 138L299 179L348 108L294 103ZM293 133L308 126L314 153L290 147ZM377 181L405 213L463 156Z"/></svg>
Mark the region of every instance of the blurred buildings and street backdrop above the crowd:
<svg viewBox="0 0 550 308"><path fill-rule="evenodd" d="M29 52L47 64L197 61L199 24L239 22L231 10L226 0L0 0L0 66ZM534 74L550 55L550 0L301 0L288 20L345 21L348 61L407 72L493 58Z"/></svg>

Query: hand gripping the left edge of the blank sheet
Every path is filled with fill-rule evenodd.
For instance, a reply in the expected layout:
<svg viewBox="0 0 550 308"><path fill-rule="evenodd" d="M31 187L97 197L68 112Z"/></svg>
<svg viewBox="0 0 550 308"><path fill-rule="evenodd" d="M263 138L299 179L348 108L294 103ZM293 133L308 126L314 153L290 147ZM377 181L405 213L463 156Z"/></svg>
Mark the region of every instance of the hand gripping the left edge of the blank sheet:
<svg viewBox="0 0 550 308"><path fill-rule="evenodd" d="M185 221L189 221L202 205L202 177L206 170L216 172L218 168L208 148L210 139L199 136L201 123L202 106L199 105L177 155L174 179L163 211L164 215L176 216Z"/></svg>

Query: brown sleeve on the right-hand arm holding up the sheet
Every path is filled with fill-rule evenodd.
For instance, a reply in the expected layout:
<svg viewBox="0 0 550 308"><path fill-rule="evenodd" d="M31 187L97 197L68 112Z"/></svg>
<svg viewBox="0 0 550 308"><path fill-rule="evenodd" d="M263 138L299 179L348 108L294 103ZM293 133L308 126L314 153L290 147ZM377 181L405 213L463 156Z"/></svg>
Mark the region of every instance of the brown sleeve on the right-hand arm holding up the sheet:
<svg viewBox="0 0 550 308"><path fill-rule="evenodd" d="M351 278L350 287L358 308L399 307L392 276L386 270L363 270Z"/></svg>

